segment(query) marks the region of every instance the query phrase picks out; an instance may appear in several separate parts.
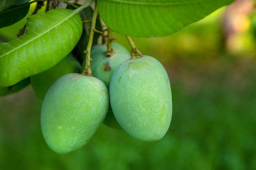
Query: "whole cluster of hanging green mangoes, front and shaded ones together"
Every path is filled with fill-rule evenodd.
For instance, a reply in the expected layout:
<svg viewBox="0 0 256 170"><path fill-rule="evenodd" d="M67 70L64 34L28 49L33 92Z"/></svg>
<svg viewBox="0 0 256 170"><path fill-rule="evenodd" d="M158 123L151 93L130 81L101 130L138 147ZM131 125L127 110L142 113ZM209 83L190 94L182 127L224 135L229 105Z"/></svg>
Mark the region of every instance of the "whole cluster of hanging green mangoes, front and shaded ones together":
<svg viewBox="0 0 256 170"><path fill-rule="evenodd" d="M81 67L73 56L31 77L36 95L43 99L43 136L55 152L78 150L102 123L123 128L140 141L157 141L168 130L172 97L162 64L146 55L131 59L121 44L112 47L107 56L106 45L92 46L93 77L80 74L85 62Z"/></svg>

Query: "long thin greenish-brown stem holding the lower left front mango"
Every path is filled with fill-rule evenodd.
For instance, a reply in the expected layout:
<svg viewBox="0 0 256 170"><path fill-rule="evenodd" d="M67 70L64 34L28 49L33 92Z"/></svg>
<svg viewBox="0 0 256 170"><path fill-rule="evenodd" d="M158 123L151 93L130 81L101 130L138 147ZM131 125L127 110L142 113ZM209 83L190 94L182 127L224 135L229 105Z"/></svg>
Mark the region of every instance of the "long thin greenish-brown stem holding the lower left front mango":
<svg viewBox="0 0 256 170"><path fill-rule="evenodd" d="M92 40L93 40L97 15L98 15L98 6L97 6L97 2L95 2L94 12L93 12L93 15L92 15L92 26L91 26L91 30L90 30L89 39L88 39L88 45L86 47L86 50L84 51L86 64L85 64L85 68L84 68L83 73L82 73L83 75L87 75L89 77L92 76L92 71L91 71L91 68L90 68L90 61L92 59L90 57L90 52L91 52L91 48L92 48Z"/></svg>

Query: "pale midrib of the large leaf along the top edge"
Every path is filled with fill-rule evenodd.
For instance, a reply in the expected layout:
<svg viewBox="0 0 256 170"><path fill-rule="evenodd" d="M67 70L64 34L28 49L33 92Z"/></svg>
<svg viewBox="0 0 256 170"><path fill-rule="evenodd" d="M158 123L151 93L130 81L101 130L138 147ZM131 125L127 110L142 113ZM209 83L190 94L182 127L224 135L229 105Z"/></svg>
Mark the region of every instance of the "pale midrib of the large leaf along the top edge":
<svg viewBox="0 0 256 170"><path fill-rule="evenodd" d="M138 1L127 1L127 0L101 0L108 2L117 2L122 4L134 4L134 5L146 5L146 6L179 6L179 5L192 5L201 4L203 2L209 2L207 0L193 0L193 1L182 1L182 2L138 2Z"/></svg>

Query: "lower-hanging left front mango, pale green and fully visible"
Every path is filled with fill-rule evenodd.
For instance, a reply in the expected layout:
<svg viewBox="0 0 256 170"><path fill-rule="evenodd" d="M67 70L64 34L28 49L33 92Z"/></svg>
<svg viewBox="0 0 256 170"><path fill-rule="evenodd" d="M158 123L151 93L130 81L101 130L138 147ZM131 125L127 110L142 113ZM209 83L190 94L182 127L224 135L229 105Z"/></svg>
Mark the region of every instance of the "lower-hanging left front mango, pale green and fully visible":
<svg viewBox="0 0 256 170"><path fill-rule="evenodd" d="M47 91L41 108L41 129L48 146L59 154L84 146L108 110L105 84L95 77L70 73Z"/></svg>

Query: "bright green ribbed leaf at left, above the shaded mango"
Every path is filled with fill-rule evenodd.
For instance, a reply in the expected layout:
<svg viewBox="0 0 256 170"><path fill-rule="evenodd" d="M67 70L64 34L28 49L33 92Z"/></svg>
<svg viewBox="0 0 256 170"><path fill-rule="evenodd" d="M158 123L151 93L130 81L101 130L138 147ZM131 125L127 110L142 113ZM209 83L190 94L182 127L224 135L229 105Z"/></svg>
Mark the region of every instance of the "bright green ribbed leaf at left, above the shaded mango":
<svg viewBox="0 0 256 170"><path fill-rule="evenodd" d="M32 15L24 35L0 43L0 87L43 72L70 53L83 30L78 12L53 9Z"/></svg>

